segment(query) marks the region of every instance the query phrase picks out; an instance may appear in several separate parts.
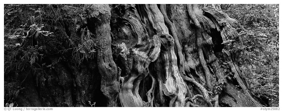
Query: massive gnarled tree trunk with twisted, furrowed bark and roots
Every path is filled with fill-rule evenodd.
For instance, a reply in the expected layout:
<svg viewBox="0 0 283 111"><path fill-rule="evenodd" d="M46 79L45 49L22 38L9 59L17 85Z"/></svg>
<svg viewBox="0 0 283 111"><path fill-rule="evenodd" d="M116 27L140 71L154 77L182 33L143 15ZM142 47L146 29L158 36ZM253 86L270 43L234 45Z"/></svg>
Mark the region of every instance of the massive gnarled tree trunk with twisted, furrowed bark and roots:
<svg viewBox="0 0 283 111"><path fill-rule="evenodd" d="M39 41L50 48L45 59L55 69L43 76L47 86L23 90L35 97L31 101L20 94L19 105L72 107L91 101L108 107L262 106L237 65L241 37L235 28L240 25L218 8L214 4L84 5L76 9L74 21L58 26L56 36L61 38L56 40L68 41L59 44L64 49L94 41L95 56L84 55L93 58L79 59L74 65L66 61L72 55L50 53L59 48L44 43L48 39ZM232 39L232 45L222 44ZM226 78L220 60L227 61L234 80ZM222 90L212 92L217 86Z"/></svg>

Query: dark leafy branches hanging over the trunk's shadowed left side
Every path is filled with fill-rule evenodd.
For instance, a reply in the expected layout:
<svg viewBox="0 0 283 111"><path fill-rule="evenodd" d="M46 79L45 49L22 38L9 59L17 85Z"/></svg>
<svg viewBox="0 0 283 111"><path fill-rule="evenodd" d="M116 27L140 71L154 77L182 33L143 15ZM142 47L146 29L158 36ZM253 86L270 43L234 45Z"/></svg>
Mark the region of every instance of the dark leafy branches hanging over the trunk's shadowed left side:
<svg viewBox="0 0 283 111"><path fill-rule="evenodd" d="M24 89L21 84L30 74L36 76L36 85L44 86L46 72L54 69L49 55L61 54L59 60L74 63L76 67L94 58L99 47L90 31L85 30L86 26L78 25L83 24L79 16L83 6L4 5L5 103L15 103L18 92ZM77 26L69 27L69 24Z"/></svg>

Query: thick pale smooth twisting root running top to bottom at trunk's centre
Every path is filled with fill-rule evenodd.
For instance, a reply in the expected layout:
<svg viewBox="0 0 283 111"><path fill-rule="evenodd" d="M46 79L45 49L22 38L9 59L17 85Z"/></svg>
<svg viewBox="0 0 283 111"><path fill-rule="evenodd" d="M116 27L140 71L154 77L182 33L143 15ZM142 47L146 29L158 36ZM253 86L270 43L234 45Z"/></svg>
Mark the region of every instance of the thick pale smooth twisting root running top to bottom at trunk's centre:
<svg viewBox="0 0 283 111"><path fill-rule="evenodd" d="M178 57L174 49L175 40L169 35L168 28L164 24L164 16L158 9L158 6L156 4L146 4L144 9L153 29L155 29L156 35L160 36L161 39L162 49L157 61L162 62L162 64L156 64L156 67L157 70L162 70L157 72L158 75L163 76L166 74L162 90L170 98L170 107L173 105L181 106L182 101L186 98L187 90L186 83L180 76L182 72L178 68Z"/></svg>

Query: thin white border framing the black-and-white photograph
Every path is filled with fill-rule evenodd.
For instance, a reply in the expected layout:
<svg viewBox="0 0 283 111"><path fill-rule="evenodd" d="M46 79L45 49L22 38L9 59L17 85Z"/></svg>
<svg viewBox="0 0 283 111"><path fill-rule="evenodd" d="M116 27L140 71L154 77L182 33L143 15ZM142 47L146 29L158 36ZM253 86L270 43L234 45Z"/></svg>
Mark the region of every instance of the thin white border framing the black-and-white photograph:
<svg viewBox="0 0 283 111"><path fill-rule="evenodd" d="M75 0L75 1L59 1L59 0L13 0L13 1L2 1L3 5L1 6L1 9L3 10L2 12L2 17L1 20L4 21L4 4L121 4L121 3L131 3L131 4L154 4L154 3L158 3L158 4L279 4L281 2L276 1L276 0L257 0L257 1L249 1L249 0L218 0L218 1L213 1L213 0L171 0L171 1L165 1L165 0L140 0L140 1L135 1L135 0L98 0L98 1L90 1L90 0ZM282 21L282 13L279 12L279 24L280 21ZM1 22L2 24L2 37L4 36L4 22ZM279 27L280 28L280 27ZM279 29L279 35L281 35L282 31ZM2 39L3 40L3 39ZM283 42L282 42L282 38L279 37L279 44L281 44L279 46L279 53L282 53L282 46L283 46ZM4 40L1 42L1 46L4 46ZM2 108L4 108L4 48L2 47L1 49L1 72L2 72L2 76L1 76L1 80L2 80L2 85L1 85L1 100L2 100ZM283 64L282 64L282 58L279 57L279 74L283 74L282 73L282 69L283 68ZM283 76L283 75L282 75ZM279 75L279 87L281 87L282 85L282 76ZM283 88L279 88L279 106L282 106L282 93L283 92ZM21 107L18 107L21 108ZM31 108L31 107L29 107ZM35 107L36 108L36 107ZM263 111L260 110L260 107L233 107L233 108L225 108L225 107L217 107L217 108L211 108L211 107L201 107L201 108L194 108L194 107L190 107L190 108L186 108L186 107L174 107L174 108L170 108L170 107L166 107L166 108L149 108L149 107L137 107L137 108L133 108L133 107L112 107L112 108L105 108L105 107L74 107L74 108L69 108L69 107L44 107L44 108L53 108L53 111L62 111L62 110L71 110L71 111L85 111L85 110L92 110L92 111L101 111L101 110L111 110L111 111L127 111L127 110L134 110L134 111L188 111L188 110L209 110L209 111L213 111L213 110L217 110L217 111ZM283 107L282 107L283 108ZM1 110L1 109L0 109ZM283 110L283 109L281 109Z"/></svg>

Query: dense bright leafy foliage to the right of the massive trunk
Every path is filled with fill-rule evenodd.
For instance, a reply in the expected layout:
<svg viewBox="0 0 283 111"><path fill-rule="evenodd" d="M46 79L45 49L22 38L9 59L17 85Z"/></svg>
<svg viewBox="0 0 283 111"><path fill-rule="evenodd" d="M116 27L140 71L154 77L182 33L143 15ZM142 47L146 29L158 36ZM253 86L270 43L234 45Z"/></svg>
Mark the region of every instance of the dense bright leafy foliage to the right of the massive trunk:
<svg viewBox="0 0 283 111"><path fill-rule="evenodd" d="M268 97L270 107L279 104L279 5L235 4L223 6L230 17L241 23L239 35L240 66L248 77L250 89L259 97Z"/></svg>

